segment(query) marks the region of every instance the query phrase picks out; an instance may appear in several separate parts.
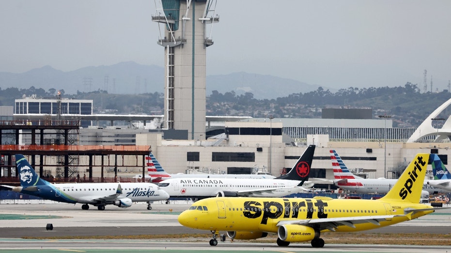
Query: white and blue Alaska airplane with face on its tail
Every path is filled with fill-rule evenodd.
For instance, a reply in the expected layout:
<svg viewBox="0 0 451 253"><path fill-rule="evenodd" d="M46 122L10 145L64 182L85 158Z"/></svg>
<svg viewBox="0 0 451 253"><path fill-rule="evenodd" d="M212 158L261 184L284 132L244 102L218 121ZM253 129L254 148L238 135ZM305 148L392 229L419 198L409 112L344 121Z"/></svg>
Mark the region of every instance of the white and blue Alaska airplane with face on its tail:
<svg viewBox="0 0 451 253"><path fill-rule="evenodd" d="M120 208L131 207L133 202L147 202L152 209L152 201L167 200L169 194L153 183L60 183L52 184L41 179L23 155L16 155L20 173L20 186L2 185L18 193L26 193L44 199L64 203L82 203L82 209L89 205L105 210L105 205Z"/></svg>

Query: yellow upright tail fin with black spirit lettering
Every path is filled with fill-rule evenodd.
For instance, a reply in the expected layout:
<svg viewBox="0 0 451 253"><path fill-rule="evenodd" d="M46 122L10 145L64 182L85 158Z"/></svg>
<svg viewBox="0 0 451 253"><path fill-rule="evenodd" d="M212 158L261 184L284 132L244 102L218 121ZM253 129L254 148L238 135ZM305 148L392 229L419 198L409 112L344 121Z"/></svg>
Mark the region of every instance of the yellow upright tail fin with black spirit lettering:
<svg viewBox="0 0 451 253"><path fill-rule="evenodd" d="M405 168L398 181L396 181L390 191L381 200L420 203L428 163L429 154L417 154L407 168Z"/></svg>

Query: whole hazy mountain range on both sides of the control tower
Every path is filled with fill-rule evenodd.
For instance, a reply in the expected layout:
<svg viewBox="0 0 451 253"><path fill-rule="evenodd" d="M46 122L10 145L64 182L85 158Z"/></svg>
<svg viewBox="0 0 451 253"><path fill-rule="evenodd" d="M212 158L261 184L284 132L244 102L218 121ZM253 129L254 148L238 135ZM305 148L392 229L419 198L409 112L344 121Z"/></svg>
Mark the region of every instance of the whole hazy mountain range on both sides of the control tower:
<svg viewBox="0 0 451 253"><path fill-rule="evenodd" d="M66 94L95 90L106 90L110 94L139 94L164 92L164 78L164 68L161 66L127 61L110 66L84 67L69 72L56 70L51 66L18 74L0 72L0 87L64 89ZM230 91L237 95L250 92L256 99L275 99L292 93L310 92L318 87L293 79L245 72L206 76L207 96L213 90L218 90L223 94ZM323 89L335 92L330 88Z"/></svg>

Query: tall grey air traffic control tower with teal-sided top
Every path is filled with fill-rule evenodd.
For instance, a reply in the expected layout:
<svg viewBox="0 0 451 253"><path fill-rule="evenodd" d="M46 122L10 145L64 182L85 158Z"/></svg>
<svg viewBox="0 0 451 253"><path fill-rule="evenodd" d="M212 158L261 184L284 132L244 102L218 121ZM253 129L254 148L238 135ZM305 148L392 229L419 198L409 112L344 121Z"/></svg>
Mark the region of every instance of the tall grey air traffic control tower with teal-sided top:
<svg viewBox="0 0 451 253"><path fill-rule="evenodd" d="M211 31L219 22L216 0L161 0L161 8L156 3L152 21L161 24L158 45L165 50L165 128L203 139L206 48L213 45Z"/></svg>

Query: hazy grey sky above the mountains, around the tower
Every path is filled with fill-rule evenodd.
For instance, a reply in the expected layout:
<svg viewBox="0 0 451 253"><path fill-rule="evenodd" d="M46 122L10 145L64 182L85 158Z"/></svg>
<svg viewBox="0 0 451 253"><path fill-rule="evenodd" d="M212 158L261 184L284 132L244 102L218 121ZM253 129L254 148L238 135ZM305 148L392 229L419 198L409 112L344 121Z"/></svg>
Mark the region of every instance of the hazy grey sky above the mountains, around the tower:
<svg viewBox="0 0 451 253"><path fill-rule="evenodd" d="M332 88L433 90L451 79L450 0L218 0L207 75L271 74ZM0 0L0 72L163 65L154 0ZM159 78L159 77L158 77Z"/></svg>

